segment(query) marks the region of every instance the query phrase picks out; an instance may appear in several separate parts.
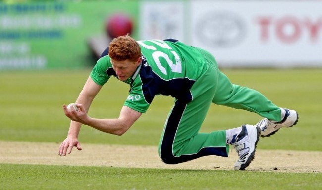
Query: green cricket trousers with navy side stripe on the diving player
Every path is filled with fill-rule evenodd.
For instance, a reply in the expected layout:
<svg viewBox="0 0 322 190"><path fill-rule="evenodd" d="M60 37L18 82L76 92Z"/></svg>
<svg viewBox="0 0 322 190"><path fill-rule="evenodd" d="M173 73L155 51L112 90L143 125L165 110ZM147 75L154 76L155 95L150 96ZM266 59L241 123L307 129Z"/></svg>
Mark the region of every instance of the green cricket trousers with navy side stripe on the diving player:
<svg viewBox="0 0 322 190"><path fill-rule="evenodd" d="M281 110L261 93L232 84L223 74L212 54L197 48L208 69L198 78L190 91L193 100L186 103L175 99L167 116L159 143L159 156L164 163L178 164L202 156L228 157L226 131L199 133L211 103L258 113L279 121Z"/></svg>

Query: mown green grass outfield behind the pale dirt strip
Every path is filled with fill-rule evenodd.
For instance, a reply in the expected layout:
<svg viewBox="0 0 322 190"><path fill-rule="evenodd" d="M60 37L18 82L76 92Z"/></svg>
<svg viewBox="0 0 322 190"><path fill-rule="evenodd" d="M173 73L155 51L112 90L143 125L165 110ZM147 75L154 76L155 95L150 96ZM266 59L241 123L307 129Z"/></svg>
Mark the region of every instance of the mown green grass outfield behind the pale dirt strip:
<svg viewBox="0 0 322 190"><path fill-rule="evenodd" d="M0 73L0 140L58 142L67 134L69 120L62 104L74 102L90 70L26 71ZM263 138L261 149L321 151L322 69L224 70L233 83L262 92L276 105L296 109L299 123L278 135ZM118 117L129 86L111 78L94 100L89 115ZM158 145L173 99L160 96L123 136L83 126L80 141L86 143ZM255 124L260 116L244 110L212 105L202 132Z"/></svg>

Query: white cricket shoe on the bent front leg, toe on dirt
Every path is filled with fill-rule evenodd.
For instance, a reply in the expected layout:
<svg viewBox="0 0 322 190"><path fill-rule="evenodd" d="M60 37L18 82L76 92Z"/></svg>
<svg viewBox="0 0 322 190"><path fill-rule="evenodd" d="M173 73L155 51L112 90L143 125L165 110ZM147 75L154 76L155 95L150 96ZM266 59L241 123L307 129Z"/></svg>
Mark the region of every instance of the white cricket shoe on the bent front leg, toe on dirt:
<svg viewBox="0 0 322 190"><path fill-rule="evenodd" d="M254 125L242 125L242 131L236 137L236 141L231 143L239 156L239 160L235 163L234 170L245 170L253 161L259 138L259 127Z"/></svg>

